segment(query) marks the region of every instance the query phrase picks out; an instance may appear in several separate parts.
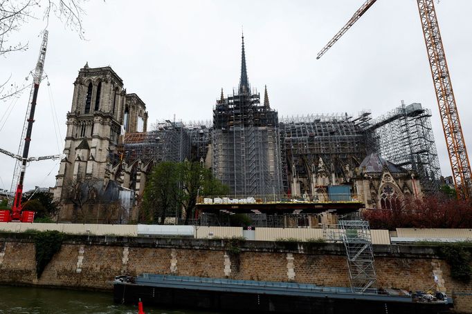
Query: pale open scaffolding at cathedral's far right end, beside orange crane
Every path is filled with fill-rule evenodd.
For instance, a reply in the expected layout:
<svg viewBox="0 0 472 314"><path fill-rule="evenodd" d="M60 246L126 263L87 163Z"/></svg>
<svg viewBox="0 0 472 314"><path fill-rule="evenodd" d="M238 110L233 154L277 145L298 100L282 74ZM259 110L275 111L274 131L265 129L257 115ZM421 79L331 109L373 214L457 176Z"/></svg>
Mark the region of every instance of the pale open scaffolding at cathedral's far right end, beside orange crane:
<svg viewBox="0 0 472 314"><path fill-rule="evenodd" d="M415 171L426 193L439 189L441 177L430 117L431 111L421 104L405 106L401 101L366 128L374 139L370 146L388 161Z"/></svg>

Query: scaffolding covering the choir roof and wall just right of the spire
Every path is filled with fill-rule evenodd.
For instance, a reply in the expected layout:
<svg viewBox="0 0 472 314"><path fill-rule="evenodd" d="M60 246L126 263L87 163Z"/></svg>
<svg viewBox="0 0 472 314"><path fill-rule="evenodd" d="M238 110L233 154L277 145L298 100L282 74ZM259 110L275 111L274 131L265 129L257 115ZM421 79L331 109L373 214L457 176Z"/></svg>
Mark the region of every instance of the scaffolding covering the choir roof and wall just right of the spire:
<svg viewBox="0 0 472 314"><path fill-rule="evenodd" d="M325 193L323 186L349 182L352 171L367 155L364 126L369 119L367 111L355 119L347 113L280 118L284 192L297 194L294 178L301 193L310 196ZM322 166L328 173L323 186L316 182Z"/></svg>

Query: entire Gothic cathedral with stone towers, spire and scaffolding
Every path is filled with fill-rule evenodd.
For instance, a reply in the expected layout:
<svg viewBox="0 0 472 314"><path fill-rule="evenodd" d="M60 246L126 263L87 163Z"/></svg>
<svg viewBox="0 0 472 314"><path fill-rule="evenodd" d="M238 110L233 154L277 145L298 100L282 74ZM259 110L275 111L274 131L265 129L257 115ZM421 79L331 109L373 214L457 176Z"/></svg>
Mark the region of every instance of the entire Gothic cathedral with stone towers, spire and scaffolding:
<svg viewBox="0 0 472 314"><path fill-rule="evenodd" d="M376 120L367 111L279 117L267 88L261 97L249 84L244 37L239 85L226 96L221 89L212 114L208 123L166 120L148 132L143 100L127 93L109 66L87 63L74 82L65 157L51 188L58 220L136 221L147 175L161 161L199 161L229 187L230 195L220 196L258 202L360 201L389 209L427 195L428 182L439 179L427 109L402 105ZM437 170L425 168L426 159Z"/></svg>

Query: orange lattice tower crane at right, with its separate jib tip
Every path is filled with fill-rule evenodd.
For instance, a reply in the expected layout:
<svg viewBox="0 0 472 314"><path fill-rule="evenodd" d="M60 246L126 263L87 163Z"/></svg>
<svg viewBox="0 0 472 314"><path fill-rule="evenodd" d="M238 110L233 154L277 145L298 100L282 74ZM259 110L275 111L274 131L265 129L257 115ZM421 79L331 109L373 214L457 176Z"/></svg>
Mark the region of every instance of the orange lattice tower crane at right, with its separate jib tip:
<svg viewBox="0 0 472 314"><path fill-rule="evenodd" d="M323 47L316 59L320 59L338 39L340 39L351 26L376 2L367 0L359 8L346 25ZM446 61L446 54L442 45L441 32L437 22L434 0L417 0L419 18L423 28L426 51L433 76L439 114L441 115L442 128L446 138L449 161L457 198L468 200L471 197L471 164L467 155L464 135L460 125L459 113L455 104L451 76Z"/></svg>

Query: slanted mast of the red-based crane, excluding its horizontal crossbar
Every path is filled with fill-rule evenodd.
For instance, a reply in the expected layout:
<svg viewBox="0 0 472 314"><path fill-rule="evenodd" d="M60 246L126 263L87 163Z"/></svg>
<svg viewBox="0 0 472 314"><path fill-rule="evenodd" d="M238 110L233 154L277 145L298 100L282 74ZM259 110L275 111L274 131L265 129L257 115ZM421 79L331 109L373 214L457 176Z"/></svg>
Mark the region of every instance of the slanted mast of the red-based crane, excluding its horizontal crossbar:
<svg viewBox="0 0 472 314"><path fill-rule="evenodd" d="M33 123L35 122L35 109L36 109L36 101L37 101L37 93L39 91L39 84L41 84L43 70L44 70L44 59L46 59L46 48L48 46L48 31L44 31L44 37L41 44L41 48L39 50L39 57L37 59L35 72L33 73L33 87L30 94L30 106L29 108L29 115L26 112L28 122L26 126L26 135L22 135L24 137L24 146L23 146L23 154L21 155L21 161L18 161L17 164L21 164L19 170L19 179L17 188L15 190L15 199L13 200L12 204L12 220L13 221L24 221L21 217L21 197L23 195L23 182L24 176L26 172L26 164L28 163L28 154L30 151L30 142L31 142L31 133L33 132ZM16 169L15 169L16 171ZM26 213L29 214L29 213ZM31 215L30 215L31 216ZM26 220L32 220L33 217L30 217Z"/></svg>

